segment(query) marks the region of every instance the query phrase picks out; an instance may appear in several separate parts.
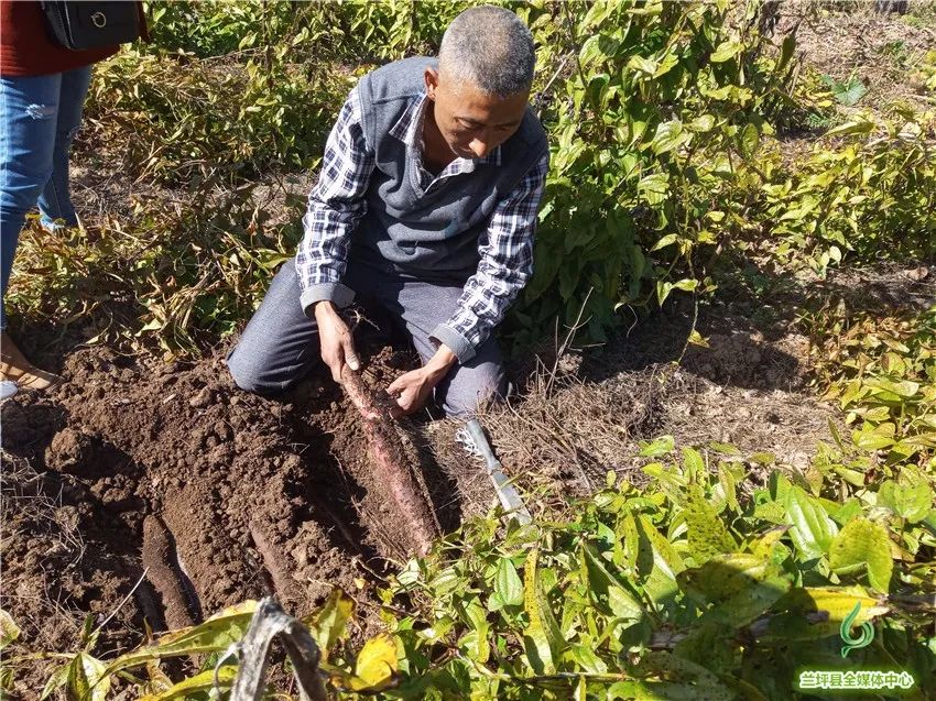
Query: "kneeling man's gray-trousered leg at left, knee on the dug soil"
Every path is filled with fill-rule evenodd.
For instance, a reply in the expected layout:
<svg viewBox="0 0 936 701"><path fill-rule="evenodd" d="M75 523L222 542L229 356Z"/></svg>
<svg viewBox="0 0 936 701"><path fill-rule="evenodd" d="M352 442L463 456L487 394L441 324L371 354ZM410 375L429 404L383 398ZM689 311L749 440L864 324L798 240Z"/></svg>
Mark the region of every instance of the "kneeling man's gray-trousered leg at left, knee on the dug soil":
<svg viewBox="0 0 936 701"><path fill-rule="evenodd" d="M241 390L272 394L300 380L319 358L318 329L300 304L295 261L287 261L228 354L228 370Z"/></svg>

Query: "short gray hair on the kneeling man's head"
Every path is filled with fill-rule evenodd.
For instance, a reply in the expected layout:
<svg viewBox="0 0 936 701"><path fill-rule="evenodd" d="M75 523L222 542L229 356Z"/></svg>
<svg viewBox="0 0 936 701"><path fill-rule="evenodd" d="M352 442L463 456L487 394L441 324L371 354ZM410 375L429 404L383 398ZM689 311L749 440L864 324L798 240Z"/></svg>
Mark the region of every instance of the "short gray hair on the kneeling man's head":
<svg viewBox="0 0 936 701"><path fill-rule="evenodd" d="M471 83L504 98L533 84L536 52L533 34L516 14L485 4L451 21L438 52L439 73L456 84Z"/></svg>

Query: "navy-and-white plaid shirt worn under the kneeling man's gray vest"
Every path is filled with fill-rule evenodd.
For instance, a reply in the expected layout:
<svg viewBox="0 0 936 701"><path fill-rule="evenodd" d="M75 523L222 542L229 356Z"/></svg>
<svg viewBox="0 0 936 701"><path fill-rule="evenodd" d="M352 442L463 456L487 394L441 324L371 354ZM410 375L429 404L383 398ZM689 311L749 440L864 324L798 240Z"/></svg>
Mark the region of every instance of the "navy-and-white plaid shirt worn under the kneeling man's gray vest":
<svg viewBox="0 0 936 701"><path fill-rule="evenodd" d="M445 178L472 172L477 163L500 165L498 146L485 158L459 157L437 176L431 175L422 163L426 101L424 92L393 128L393 134L410 146L407 153L416 160L424 193ZM494 208L487 230L478 240L478 271L465 283L453 316L433 333L436 342L440 340L438 337L453 339L447 344L456 347L451 350L459 362L469 360L487 340L533 273L536 209L548 166L549 157L545 154ZM366 194L373 168L373 154L368 151L361 127L360 97L355 88L328 135L318 183L308 196L308 209L303 217L305 237L296 254L303 308L323 299L344 307L353 299L355 293L340 281L347 267L351 232L367 211Z"/></svg>

